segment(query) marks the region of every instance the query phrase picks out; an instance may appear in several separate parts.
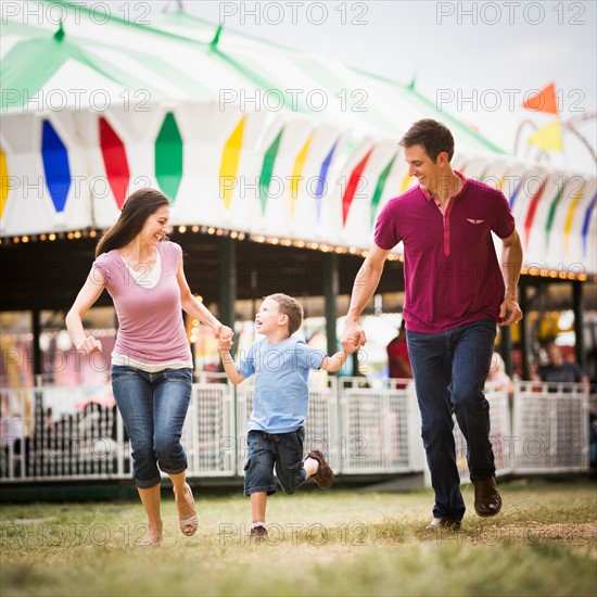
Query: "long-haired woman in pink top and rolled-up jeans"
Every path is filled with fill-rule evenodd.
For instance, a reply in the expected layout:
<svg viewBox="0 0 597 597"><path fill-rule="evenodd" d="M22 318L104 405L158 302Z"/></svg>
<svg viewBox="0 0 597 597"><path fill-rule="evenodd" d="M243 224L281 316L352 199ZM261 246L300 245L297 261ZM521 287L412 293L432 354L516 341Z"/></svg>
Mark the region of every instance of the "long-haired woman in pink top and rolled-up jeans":
<svg viewBox="0 0 597 597"><path fill-rule="evenodd" d="M169 205L154 189L141 189L128 198L120 217L98 243L89 277L66 316L74 345L91 355L102 345L85 333L82 317L104 288L116 307L112 388L130 437L134 482L148 516L142 546L162 539L160 469L174 484L182 533L191 536L199 525L180 444L192 383L191 352L180 310L209 326L216 339L232 335L191 294L182 250L166 237Z"/></svg>

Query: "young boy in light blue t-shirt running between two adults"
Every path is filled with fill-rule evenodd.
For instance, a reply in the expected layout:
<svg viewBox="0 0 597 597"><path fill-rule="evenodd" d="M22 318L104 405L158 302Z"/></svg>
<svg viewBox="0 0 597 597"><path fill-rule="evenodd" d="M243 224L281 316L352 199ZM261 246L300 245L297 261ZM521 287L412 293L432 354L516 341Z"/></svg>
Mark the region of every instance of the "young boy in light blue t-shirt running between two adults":
<svg viewBox="0 0 597 597"><path fill-rule="evenodd" d="M230 340L218 342L226 373L237 385L255 373L253 411L247 424L249 454L244 467L244 495L251 496L251 538L267 537L267 496L276 493L274 467L287 494L293 494L309 477L322 490L333 484L333 471L321 452L314 449L303 460L304 422L308 412L309 369L338 371L345 351L328 356L309 348L292 334L303 322L303 307L287 294L266 296L255 316L257 340L237 366L230 356ZM356 343L354 343L356 344ZM355 352L357 346L354 346Z"/></svg>

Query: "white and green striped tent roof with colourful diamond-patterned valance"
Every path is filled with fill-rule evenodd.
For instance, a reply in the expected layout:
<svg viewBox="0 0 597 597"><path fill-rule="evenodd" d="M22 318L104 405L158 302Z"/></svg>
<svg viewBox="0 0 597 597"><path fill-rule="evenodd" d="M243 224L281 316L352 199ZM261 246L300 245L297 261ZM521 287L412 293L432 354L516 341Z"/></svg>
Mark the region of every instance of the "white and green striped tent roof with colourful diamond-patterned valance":
<svg viewBox="0 0 597 597"><path fill-rule="evenodd" d="M174 225L367 249L379 209L414 182L396 140L436 117L456 168L509 198L526 263L597 271L595 177L508 156L412 85L185 13L98 24L51 4L61 22L2 23L4 238L110 226L152 185Z"/></svg>

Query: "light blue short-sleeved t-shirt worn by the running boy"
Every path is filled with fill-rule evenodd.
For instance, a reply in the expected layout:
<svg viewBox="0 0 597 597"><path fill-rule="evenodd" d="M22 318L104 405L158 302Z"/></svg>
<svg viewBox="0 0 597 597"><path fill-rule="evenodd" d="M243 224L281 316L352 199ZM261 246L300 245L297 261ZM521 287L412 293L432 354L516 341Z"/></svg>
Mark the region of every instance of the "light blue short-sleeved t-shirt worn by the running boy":
<svg viewBox="0 0 597 597"><path fill-rule="evenodd" d="M247 431L290 433L304 424L309 408L309 369L319 369L326 356L294 336L278 344L269 344L267 339L255 342L238 365L245 378L255 373Z"/></svg>

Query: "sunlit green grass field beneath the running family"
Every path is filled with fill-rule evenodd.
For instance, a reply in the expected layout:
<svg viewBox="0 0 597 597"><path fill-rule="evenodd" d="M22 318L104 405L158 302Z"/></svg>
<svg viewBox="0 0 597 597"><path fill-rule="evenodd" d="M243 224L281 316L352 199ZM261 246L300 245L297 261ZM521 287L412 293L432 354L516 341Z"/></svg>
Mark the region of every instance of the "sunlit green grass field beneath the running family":
<svg viewBox="0 0 597 597"><path fill-rule="evenodd" d="M249 499L202 498L187 538L164 499L164 541L135 547L140 503L0 507L0 594L570 595L597 594L595 483L500 485L494 519L467 512L459 533L425 529L432 493L332 488L268 504L269 542L252 545ZM472 488L463 487L472 511Z"/></svg>

